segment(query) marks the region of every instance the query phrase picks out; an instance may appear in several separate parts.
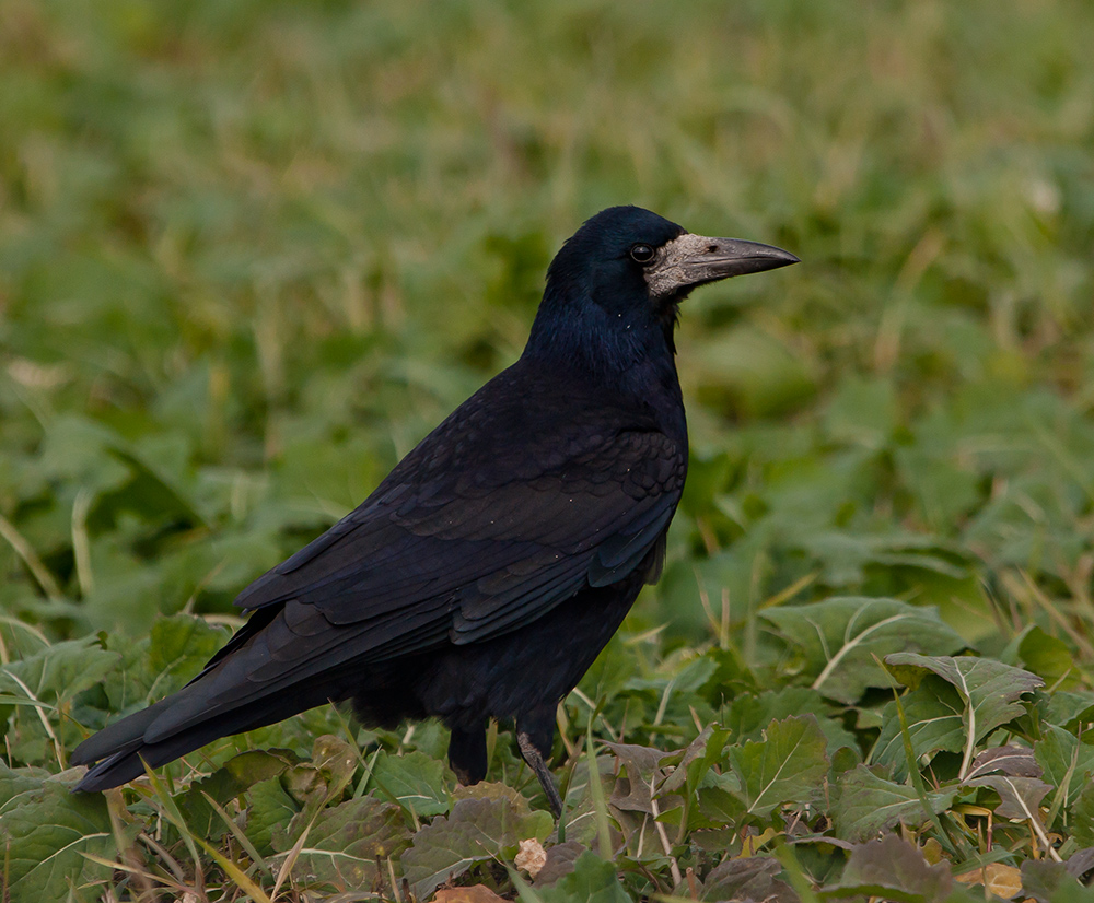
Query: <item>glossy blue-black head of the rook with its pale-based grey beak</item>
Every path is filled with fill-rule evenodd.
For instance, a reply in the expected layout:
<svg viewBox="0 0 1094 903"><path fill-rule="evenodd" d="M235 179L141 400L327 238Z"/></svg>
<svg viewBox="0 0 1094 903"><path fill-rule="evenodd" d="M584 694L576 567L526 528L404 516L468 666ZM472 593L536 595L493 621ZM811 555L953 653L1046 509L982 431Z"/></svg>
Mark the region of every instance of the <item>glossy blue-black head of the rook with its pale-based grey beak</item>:
<svg viewBox="0 0 1094 903"><path fill-rule="evenodd" d="M677 305L708 282L796 263L780 248L694 235L640 207L609 207L587 220L547 270L529 348L565 338L566 324L610 333L662 337L673 349ZM561 335L555 335L555 333Z"/></svg>

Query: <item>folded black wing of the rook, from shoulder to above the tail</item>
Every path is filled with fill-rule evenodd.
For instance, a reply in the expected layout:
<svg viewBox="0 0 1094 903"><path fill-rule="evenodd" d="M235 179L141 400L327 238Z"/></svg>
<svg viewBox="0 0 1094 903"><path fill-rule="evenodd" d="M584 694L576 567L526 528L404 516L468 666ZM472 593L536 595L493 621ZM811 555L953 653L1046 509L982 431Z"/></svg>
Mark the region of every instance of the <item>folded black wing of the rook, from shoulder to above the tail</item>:
<svg viewBox="0 0 1094 903"><path fill-rule="evenodd" d="M480 642L542 617L586 585L621 579L672 519L685 453L662 433L636 430L601 431L571 443L568 455L554 446L539 466L536 447L526 443L515 468L492 459L450 476L443 467L400 466L237 605L312 606L331 630L360 625L351 631L353 648L383 656L418 647L411 631L423 647L445 633L457 644ZM398 480L400 471L427 479ZM430 471L437 476L428 479ZM423 630L423 617L442 630Z"/></svg>

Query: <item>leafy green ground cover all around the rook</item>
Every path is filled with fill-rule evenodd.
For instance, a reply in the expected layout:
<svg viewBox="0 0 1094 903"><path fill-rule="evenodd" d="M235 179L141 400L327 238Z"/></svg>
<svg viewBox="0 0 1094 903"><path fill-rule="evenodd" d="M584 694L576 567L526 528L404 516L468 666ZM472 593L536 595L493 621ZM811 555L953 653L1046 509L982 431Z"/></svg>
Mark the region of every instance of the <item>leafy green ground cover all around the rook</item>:
<svg viewBox="0 0 1094 903"><path fill-rule="evenodd" d="M1094 845L1091 47L1083 0L0 0L3 892L429 899L463 856L548 903L884 896L877 861L1052 898L1045 840ZM554 249L628 202L803 263L685 305L668 566L560 715L549 867L594 853L514 877L550 826L504 726L481 791L435 725L321 710L69 797L74 744L515 360ZM969 784L1006 740L1035 767ZM801 779L757 796L772 763Z"/></svg>

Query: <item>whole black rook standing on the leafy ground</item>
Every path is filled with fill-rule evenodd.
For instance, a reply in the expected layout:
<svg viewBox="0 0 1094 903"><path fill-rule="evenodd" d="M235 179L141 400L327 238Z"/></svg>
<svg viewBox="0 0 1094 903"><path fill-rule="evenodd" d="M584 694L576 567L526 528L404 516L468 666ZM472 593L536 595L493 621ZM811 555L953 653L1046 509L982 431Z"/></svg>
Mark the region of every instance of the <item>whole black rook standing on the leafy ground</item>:
<svg viewBox="0 0 1094 903"><path fill-rule="evenodd" d="M589 220L547 271L521 359L360 507L240 594L253 612L190 683L81 743L79 790L327 701L365 724L437 716L465 783L513 720L558 817L555 712L661 572L687 472L678 305L798 262L637 207ZM102 761L100 761L102 760Z"/></svg>

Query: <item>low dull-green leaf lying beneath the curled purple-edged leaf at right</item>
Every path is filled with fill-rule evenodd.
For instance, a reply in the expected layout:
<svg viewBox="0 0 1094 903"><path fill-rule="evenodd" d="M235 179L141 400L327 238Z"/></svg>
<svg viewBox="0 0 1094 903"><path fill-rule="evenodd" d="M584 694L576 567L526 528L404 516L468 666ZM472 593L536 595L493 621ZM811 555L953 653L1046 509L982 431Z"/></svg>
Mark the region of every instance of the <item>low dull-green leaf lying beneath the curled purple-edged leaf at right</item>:
<svg viewBox="0 0 1094 903"><path fill-rule="evenodd" d="M951 787L927 795L928 805L935 814L948 808L957 795ZM887 831L896 824L922 824L931 813L916 789L906 784L895 784L878 777L865 765L840 775L833 804L836 836L850 841L864 841Z"/></svg>

